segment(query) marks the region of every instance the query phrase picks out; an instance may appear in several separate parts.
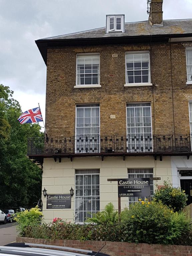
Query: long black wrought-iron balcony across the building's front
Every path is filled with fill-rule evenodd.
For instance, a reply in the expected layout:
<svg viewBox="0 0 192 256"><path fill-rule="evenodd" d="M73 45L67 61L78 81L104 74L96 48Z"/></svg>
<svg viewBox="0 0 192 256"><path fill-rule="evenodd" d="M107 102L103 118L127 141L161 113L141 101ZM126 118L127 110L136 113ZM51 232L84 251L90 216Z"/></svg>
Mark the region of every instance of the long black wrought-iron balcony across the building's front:
<svg viewBox="0 0 192 256"><path fill-rule="evenodd" d="M191 152L191 134L189 135L113 135L28 139L27 155L35 162L42 163L43 158L53 157L55 161L62 157L82 156L162 156L185 155L189 159Z"/></svg>

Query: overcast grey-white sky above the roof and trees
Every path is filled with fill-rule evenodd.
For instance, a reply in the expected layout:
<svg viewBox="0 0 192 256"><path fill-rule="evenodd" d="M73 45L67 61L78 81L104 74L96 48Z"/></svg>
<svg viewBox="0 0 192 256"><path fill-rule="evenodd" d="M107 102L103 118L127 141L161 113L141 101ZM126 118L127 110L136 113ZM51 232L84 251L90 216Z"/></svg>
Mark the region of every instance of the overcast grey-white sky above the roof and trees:
<svg viewBox="0 0 192 256"><path fill-rule="evenodd" d="M39 102L44 116L46 65L35 40L104 27L106 14L147 20L146 11L147 0L0 0L0 84L23 111ZM164 0L163 19L190 18L192 0Z"/></svg>

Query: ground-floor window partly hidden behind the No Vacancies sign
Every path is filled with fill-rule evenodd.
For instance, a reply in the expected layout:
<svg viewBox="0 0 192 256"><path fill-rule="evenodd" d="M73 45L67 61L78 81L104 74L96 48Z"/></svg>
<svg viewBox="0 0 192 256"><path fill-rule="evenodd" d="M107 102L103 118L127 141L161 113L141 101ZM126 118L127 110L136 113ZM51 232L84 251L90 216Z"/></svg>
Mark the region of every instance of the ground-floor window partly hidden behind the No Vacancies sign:
<svg viewBox="0 0 192 256"><path fill-rule="evenodd" d="M153 169L152 168L142 168L142 169L128 169L128 179L134 179L134 178L151 178L153 177ZM151 190L151 196L153 196L154 193L154 185L153 180L150 180L150 190ZM138 199L145 200L149 199L148 197L129 197L129 204L138 202Z"/></svg>

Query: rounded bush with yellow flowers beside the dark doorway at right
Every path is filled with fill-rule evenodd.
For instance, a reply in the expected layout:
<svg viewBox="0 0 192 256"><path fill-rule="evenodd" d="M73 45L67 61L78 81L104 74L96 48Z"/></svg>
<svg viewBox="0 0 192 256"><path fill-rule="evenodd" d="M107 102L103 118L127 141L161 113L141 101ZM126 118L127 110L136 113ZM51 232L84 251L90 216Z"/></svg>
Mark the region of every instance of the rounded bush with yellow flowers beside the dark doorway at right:
<svg viewBox="0 0 192 256"><path fill-rule="evenodd" d="M154 193L156 202L161 201L174 211L180 211L186 206L187 195L181 188L174 188L170 182L164 181L164 187Z"/></svg>

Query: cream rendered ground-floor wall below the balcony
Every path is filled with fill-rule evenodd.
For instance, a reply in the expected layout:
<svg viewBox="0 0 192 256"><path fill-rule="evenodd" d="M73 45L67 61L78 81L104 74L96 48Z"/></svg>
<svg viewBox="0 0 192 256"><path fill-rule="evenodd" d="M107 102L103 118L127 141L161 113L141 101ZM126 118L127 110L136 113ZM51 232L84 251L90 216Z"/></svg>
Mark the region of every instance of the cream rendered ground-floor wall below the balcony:
<svg viewBox="0 0 192 256"><path fill-rule="evenodd" d="M100 210L104 210L107 203L112 202L118 208L117 182L109 182L108 178L127 178L127 168L153 168L153 176L161 177L155 181L157 185L164 180L172 182L171 158L163 157L155 161L152 156L126 157L76 157L73 161L62 158L61 163L54 162L53 158L45 158L43 164L42 190L47 189L48 194L69 194L71 187L75 188L75 169L100 169ZM156 189L156 187L154 187ZM71 209L46 209L46 198L42 195L43 214L46 222L59 217L67 221L74 221L74 196ZM128 206L128 198L121 198L121 209Z"/></svg>

